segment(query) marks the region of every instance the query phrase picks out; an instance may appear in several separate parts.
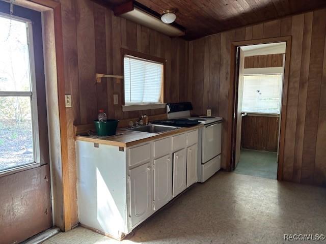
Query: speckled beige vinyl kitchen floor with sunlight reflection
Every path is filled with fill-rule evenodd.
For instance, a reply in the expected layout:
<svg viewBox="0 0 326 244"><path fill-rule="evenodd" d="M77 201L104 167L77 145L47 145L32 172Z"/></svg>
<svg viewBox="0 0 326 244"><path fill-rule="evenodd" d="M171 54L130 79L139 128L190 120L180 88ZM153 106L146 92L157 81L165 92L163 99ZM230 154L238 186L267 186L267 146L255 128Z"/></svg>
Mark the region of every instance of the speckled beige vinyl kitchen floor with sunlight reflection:
<svg viewBox="0 0 326 244"><path fill-rule="evenodd" d="M44 243L275 244L292 243L284 240L290 234L326 234L325 188L222 171L195 184L122 242L76 227Z"/></svg>

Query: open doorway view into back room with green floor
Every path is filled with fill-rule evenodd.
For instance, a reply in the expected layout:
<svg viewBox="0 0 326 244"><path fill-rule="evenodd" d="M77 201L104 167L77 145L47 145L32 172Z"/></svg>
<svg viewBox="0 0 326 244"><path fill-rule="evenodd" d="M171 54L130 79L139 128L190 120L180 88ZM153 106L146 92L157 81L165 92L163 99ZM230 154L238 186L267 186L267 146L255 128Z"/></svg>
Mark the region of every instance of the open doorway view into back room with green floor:
<svg viewBox="0 0 326 244"><path fill-rule="evenodd" d="M234 172L277 179L286 42L237 47Z"/></svg>

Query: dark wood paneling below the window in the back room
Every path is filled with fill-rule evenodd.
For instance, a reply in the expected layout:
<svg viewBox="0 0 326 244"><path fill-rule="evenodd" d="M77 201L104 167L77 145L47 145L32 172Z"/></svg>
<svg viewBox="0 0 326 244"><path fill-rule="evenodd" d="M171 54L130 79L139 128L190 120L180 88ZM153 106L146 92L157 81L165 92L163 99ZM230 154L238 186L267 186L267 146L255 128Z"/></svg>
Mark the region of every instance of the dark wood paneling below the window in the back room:
<svg viewBox="0 0 326 244"><path fill-rule="evenodd" d="M243 116L241 147L277 151L279 124L279 117L276 116Z"/></svg>

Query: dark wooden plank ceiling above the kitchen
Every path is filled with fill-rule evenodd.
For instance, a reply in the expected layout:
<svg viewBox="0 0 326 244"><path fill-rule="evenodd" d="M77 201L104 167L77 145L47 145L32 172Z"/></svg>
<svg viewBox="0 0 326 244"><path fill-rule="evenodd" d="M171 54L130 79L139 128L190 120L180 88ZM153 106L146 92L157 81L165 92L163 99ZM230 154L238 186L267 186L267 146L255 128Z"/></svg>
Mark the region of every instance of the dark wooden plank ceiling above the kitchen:
<svg viewBox="0 0 326 244"><path fill-rule="evenodd" d="M113 8L129 1L97 0L97 2L105 2ZM177 9L176 23L185 28L186 40L326 7L325 0L137 0L137 2L157 15L165 9Z"/></svg>

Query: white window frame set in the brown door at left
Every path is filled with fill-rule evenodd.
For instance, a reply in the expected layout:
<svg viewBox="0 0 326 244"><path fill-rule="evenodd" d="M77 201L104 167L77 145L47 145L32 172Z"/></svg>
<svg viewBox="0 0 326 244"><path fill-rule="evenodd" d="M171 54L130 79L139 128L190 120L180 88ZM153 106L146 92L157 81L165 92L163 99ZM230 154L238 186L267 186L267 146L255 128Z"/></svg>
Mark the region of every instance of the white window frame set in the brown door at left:
<svg viewBox="0 0 326 244"><path fill-rule="evenodd" d="M29 97L31 100L31 119L32 119L32 134L33 134L33 158L34 162L12 167L5 170L0 170L0 175L10 172L20 171L37 167L41 165L40 160L40 138L39 138L39 124L38 124L38 108L37 108L37 87L36 87L36 73L35 73L35 58L34 58L34 42L33 42L33 26L30 19L0 12L0 17L20 21L26 24L26 36L29 51L29 66L30 66L30 85L31 92L16 92L16 91L0 91L0 97Z"/></svg>

